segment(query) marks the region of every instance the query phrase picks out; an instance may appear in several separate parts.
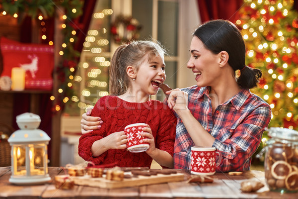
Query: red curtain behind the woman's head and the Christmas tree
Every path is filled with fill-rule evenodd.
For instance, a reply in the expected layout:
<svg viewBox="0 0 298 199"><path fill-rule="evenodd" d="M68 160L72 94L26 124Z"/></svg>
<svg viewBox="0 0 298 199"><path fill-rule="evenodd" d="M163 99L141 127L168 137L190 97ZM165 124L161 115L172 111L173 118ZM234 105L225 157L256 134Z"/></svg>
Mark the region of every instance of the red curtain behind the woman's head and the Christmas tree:
<svg viewBox="0 0 298 199"><path fill-rule="evenodd" d="M202 23L211 19L237 20L236 12L244 4L242 0L197 0ZM298 10L298 0L294 0L294 8Z"/></svg>

